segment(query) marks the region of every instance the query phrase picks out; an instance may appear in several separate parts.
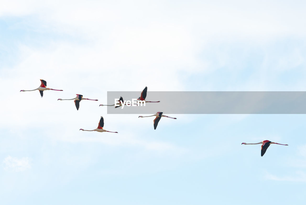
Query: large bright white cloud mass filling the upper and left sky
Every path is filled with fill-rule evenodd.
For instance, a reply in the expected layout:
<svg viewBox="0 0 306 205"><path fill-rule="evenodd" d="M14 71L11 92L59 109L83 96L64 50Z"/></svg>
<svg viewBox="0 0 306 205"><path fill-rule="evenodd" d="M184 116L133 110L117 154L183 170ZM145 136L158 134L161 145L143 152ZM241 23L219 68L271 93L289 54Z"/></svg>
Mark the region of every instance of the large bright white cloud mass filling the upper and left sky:
<svg viewBox="0 0 306 205"><path fill-rule="evenodd" d="M9 86L9 89L2 91L2 95L10 100L2 102L6 109L2 110L0 127L13 129L18 126L23 130L52 128L52 133L57 136L67 133L65 140L79 141L84 133L75 133L74 130L96 128L99 116L103 115L106 129L121 131L118 138L122 142L129 142L99 139L100 142L139 145L154 150L173 149L173 145L164 142L125 138L124 134L128 130L137 131L139 125L147 122L136 121L137 117L131 117L128 121L106 115L106 108L98 106L105 104L106 91L141 92L144 86L148 86L150 91L183 91L186 89L182 83L184 74L216 69L213 64L208 68L207 62L203 62L205 60L199 56L204 49L217 53L216 61L223 62L222 65L231 63L231 56L220 52L215 42L222 44L229 39L261 41L263 38L305 34L305 27L296 26L305 16L298 4L290 4L289 7L278 4L272 10L268 9L269 4L274 5L265 3L267 7L262 7L257 3L253 5L239 1L221 1L220 4L174 4L172 1L121 1L119 4L107 1L91 1L86 4L83 1L5 1L5 6L0 8L0 16L21 17L20 24L24 23L36 32L30 34L31 38L40 32L60 35L58 38L47 39L41 47L21 43L16 64L1 70L0 85ZM293 11L294 15L291 15ZM23 18L27 16L29 18ZM279 18L286 19L280 21ZM63 34L68 34L75 41L61 39ZM217 49L211 50L214 47ZM292 56L290 62L303 62L303 55L299 51L295 54L297 57ZM288 63L279 64L286 67ZM265 68L262 70L266 72ZM257 74L265 76L264 72L259 69ZM21 89L37 88L40 85L39 79L46 80L50 88L64 91L45 91L43 99L40 99L38 91L19 92ZM222 86L212 77L213 83L208 87L209 81L203 79L201 86L193 89L215 90L219 86L217 84ZM236 83L223 86L229 90L251 90L260 84L257 77L254 81L256 83L242 88L239 85L235 87ZM191 84L190 81L188 83ZM76 111L73 102L56 101L58 98L73 98L75 94L99 101L82 102L79 111ZM75 119L78 119L77 122ZM134 120L137 123L117 130L117 125ZM56 139L60 140L59 137Z"/></svg>

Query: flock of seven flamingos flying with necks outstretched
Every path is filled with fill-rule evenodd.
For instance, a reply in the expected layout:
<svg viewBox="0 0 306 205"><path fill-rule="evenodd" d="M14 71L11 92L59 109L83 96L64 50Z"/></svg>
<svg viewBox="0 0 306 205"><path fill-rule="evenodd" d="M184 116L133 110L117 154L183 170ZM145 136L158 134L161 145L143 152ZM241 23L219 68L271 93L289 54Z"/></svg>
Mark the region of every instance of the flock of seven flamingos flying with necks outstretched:
<svg viewBox="0 0 306 205"><path fill-rule="evenodd" d="M44 80L40 80L40 81L41 81L40 86L38 88L34 89L34 90L39 90L41 97L43 97L43 91L45 91L45 90L56 90L56 89L52 89L52 88L47 88L47 81L44 81ZM21 90L21 91L24 92L24 91L34 91L34 90ZM57 90L57 91L63 91L63 90ZM145 100L146 96L147 96L147 87L144 88L144 90L141 92L140 97L137 100ZM58 99L58 100L74 100L76 110L79 110L81 100L93 100L93 99L83 98L83 95L76 94L76 97L73 98L73 99ZM94 101L98 101L98 100L94 100ZM123 102L122 97L120 97L119 102L117 103L119 106L115 106L115 108L122 106L121 102ZM146 103L159 103L160 101L155 101L155 102L145 101L145 102ZM99 106L114 106L114 105L99 105ZM139 117L153 117L153 116L155 116L155 119L153 120L154 129L156 129L157 124L162 117L169 117L169 116L163 115L162 112L157 112L154 115L150 115L150 116L139 116ZM177 118L174 118L174 117L169 117L169 118L177 119ZM80 130L82 130L82 131L111 132L111 131L104 130L103 127L104 127L104 119L101 116L99 124L98 124L98 128L96 128L94 130L84 130L84 129L80 129ZM114 133L118 133L118 132L114 132ZM269 140L264 140L264 141L258 142L258 143L245 143L245 142L243 142L241 144L244 144L244 145L262 144L262 146L261 146L261 156L263 156L266 153L268 147L271 144L278 144L278 143L271 142ZM278 145L284 145L284 144L278 144Z"/></svg>

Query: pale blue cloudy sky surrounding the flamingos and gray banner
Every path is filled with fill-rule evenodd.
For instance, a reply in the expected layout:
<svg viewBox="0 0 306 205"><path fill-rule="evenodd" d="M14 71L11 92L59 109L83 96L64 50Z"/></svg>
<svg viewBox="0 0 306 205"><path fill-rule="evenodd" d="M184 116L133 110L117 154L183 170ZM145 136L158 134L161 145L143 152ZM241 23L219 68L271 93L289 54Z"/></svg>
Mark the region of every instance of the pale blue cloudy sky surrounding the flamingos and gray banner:
<svg viewBox="0 0 306 205"><path fill-rule="evenodd" d="M107 114L99 104L107 91L145 86L305 91L305 6L2 1L1 204L304 204L305 115L163 110L177 119L154 130L153 118ZM63 91L19 92L39 79ZM57 101L75 94L99 101L79 110ZM100 116L118 134L80 131ZM289 146L261 157L260 145L241 145L263 140Z"/></svg>

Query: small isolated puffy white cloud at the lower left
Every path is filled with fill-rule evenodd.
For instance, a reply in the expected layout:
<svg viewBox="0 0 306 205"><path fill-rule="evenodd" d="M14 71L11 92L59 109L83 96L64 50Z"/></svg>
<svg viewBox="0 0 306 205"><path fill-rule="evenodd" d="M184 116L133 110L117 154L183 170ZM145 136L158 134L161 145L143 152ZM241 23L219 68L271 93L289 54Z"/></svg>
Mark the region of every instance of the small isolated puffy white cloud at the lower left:
<svg viewBox="0 0 306 205"><path fill-rule="evenodd" d="M22 157L18 159L17 157L7 156L3 160L4 170L20 172L31 168L29 157Z"/></svg>

